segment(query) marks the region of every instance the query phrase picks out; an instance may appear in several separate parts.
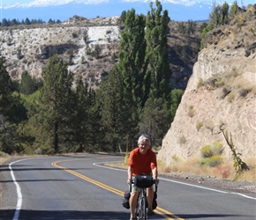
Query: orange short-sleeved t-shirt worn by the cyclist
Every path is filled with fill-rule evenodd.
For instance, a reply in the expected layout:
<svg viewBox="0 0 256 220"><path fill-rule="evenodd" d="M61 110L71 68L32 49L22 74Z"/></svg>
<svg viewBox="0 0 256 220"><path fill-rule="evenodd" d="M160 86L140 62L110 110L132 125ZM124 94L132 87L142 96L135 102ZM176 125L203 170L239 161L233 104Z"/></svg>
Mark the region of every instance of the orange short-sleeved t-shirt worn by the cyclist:
<svg viewBox="0 0 256 220"><path fill-rule="evenodd" d="M132 167L132 176L141 173L149 174L157 166L155 153L148 149L144 155L139 152L139 148L136 148L130 154L128 165Z"/></svg>

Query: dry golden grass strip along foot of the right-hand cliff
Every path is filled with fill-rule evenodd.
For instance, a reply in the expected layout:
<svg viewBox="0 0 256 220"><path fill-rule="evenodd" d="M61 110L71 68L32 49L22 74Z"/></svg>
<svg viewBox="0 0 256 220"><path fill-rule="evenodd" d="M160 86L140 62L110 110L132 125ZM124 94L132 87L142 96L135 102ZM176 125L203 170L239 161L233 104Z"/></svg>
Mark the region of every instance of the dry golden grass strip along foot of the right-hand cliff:
<svg viewBox="0 0 256 220"><path fill-rule="evenodd" d="M256 158L247 158L245 163L250 167L249 171L242 172L237 178L237 181L256 182ZM107 164L111 167L127 169L127 163L111 163ZM235 170L232 161L226 161L222 165L209 167L207 165L200 165L200 158L189 158L185 161L173 162L170 165L164 165L162 161L158 161L158 171L160 173L190 173L192 175L207 175L216 179L233 180Z"/></svg>

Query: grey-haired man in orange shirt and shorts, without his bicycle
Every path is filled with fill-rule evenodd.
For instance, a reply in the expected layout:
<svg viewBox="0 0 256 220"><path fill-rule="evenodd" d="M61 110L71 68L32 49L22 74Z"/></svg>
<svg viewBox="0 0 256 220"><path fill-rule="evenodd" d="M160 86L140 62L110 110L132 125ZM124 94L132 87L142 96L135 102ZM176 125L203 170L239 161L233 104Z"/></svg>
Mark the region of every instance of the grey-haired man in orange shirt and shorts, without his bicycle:
<svg viewBox="0 0 256 220"><path fill-rule="evenodd" d="M137 174L146 173L152 174L153 179L157 180L157 162L156 156L153 150L150 149L150 139L147 136L139 136L138 148L132 150L128 162L128 179L127 183L131 184L131 180L135 178ZM137 219L135 216L135 209L137 206L137 200L139 195L139 188L132 184L132 192L129 200L131 208L131 220ZM154 187L147 188L147 216L154 216L154 210L152 209L152 203L154 199Z"/></svg>

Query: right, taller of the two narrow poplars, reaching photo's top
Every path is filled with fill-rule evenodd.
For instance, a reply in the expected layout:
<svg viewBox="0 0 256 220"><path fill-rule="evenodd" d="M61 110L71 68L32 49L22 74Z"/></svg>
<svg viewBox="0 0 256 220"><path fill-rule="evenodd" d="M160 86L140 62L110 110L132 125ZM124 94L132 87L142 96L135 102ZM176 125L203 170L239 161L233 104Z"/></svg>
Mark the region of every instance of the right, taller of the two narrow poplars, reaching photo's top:
<svg viewBox="0 0 256 220"><path fill-rule="evenodd" d="M152 98L168 99L169 69L167 33L169 16L168 11L162 11L162 4L156 0L156 9L150 3L151 11L147 12L147 82L150 82L149 95ZM146 83L148 85L148 83Z"/></svg>

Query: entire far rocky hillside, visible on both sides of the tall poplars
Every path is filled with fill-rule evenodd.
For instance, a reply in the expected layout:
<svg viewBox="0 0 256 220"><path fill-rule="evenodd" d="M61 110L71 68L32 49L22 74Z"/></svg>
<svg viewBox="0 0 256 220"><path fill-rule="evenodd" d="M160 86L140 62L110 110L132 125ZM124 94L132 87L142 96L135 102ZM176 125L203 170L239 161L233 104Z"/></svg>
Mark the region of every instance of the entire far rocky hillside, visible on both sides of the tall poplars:
<svg viewBox="0 0 256 220"><path fill-rule="evenodd" d="M1 55L6 59L11 77L19 81L24 70L34 77L41 77L49 56L57 53L69 62L69 70L76 77L83 77L89 86L96 88L118 62L121 28L117 19L74 16L62 24L1 27ZM169 22L168 43L173 71L171 85L184 89L200 48L200 25L195 26L194 33L184 34L179 28L181 24L186 25ZM91 53L96 47L101 50L98 57Z"/></svg>

